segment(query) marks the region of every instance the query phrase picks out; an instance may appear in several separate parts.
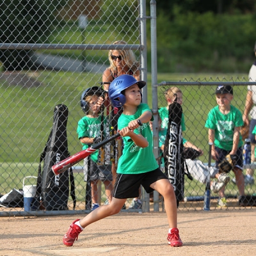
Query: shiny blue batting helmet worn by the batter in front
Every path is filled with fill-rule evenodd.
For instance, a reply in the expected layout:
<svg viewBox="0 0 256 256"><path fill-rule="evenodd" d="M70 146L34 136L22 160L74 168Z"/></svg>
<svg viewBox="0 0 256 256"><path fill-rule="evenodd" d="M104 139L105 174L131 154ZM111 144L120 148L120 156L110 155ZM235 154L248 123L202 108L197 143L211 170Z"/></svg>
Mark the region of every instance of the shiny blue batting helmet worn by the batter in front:
<svg viewBox="0 0 256 256"><path fill-rule="evenodd" d="M116 77L109 85L108 95L113 107L120 108L125 104L124 90L132 86L132 84L138 84L139 88L143 88L146 85L145 81L137 81L133 76L122 75Z"/></svg>

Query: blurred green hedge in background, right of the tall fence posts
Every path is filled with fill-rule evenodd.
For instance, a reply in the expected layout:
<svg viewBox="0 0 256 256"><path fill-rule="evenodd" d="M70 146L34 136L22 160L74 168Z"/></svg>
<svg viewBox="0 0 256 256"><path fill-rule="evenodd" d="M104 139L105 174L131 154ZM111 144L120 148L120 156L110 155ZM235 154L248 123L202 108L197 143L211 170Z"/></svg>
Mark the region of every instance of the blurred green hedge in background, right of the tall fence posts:
<svg viewBox="0 0 256 256"><path fill-rule="evenodd" d="M253 15L199 14L173 10L157 17L161 72L248 72L253 61Z"/></svg>

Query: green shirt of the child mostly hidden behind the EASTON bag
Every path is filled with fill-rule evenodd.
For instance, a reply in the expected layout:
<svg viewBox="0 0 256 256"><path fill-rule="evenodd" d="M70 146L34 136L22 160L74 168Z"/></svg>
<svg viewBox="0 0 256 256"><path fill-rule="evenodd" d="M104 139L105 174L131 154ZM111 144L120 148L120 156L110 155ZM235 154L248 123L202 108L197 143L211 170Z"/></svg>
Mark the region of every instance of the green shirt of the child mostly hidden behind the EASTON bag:
<svg viewBox="0 0 256 256"><path fill-rule="evenodd" d="M161 128L162 131L159 131L159 147L161 147L164 144L165 138L166 138L166 133L168 129L168 122L169 122L169 111L166 107L160 108L158 110L159 116L161 117ZM186 130L186 125L185 125L185 118L184 114L182 113L181 116L181 131L184 132ZM186 139L182 138L183 144L187 142Z"/></svg>

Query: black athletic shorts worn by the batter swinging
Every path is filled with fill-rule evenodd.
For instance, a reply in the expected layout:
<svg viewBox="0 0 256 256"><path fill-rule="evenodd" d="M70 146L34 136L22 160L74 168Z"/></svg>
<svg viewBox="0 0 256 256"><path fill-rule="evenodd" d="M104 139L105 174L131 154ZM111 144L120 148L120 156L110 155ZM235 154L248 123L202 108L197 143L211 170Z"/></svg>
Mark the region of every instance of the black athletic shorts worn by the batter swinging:
<svg viewBox="0 0 256 256"><path fill-rule="evenodd" d="M138 197L141 185L147 193L150 193L154 191L154 189L150 188L150 185L161 179L168 178L159 168L140 174L117 173L113 196L119 199Z"/></svg>

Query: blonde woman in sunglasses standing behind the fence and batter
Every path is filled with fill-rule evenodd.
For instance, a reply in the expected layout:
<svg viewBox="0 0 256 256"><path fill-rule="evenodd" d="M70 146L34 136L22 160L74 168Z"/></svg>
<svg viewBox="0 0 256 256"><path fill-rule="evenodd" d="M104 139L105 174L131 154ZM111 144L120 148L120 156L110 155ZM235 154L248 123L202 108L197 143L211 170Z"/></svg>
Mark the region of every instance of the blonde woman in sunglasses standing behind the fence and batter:
<svg viewBox="0 0 256 256"><path fill-rule="evenodd" d="M116 41L113 44L127 44L124 41ZM108 92L109 84L118 76L121 75L131 75L136 80L140 80L140 63L136 61L136 56L132 50L109 50L108 52L109 59L109 67L102 74L102 84L103 89ZM106 95L107 96L107 95ZM114 127L114 130L117 131L117 120L120 114L122 113L122 108L112 108L108 97L105 98L105 104L107 109L107 115L109 116L110 126ZM109 115L110 114L110 115ZM115 161L112 161L112 173L113 173L113 184L115 185L115 177L116 177L116 159L120 157L120 153L122 152L122 141L118 141L118 147L115 148L114 156L111 158L115 158ZM115 143L115 142L113 142ZM116 143L115 143L116 146ZM122 153L121 153L122 154ZM117 156L116 156L117 155ZM139 198L134 198L132 200L132 204L130 208L132 209L140 209L142 203ZM125 209L125 205L123 207Z"/></svg>

